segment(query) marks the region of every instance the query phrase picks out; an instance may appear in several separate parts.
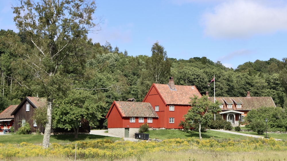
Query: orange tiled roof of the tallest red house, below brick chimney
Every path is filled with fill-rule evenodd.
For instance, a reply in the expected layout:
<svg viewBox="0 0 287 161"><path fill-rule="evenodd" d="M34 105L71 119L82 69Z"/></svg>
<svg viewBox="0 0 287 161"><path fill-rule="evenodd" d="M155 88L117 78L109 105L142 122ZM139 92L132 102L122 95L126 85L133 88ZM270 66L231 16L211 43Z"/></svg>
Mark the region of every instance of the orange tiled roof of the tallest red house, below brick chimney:
<svg viewBox="0 0 287 161"><path fill-rule="evenodd" d="M168 84L154 84L166 104L190 105L190 97L193 95L201 97L195 86L174 85L175 90L171 90Z"/></svg>

